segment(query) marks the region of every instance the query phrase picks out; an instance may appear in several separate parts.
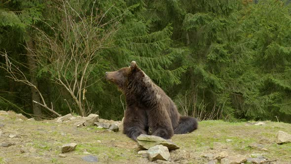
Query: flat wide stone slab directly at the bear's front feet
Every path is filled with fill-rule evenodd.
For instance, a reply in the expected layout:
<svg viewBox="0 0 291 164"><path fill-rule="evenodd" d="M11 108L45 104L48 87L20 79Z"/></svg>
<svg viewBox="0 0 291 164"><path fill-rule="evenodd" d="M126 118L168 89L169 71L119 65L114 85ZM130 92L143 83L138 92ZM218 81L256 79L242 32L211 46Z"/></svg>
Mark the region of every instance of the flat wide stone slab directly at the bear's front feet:
<svg viewBox="0 0 291 164"><path fill-rule="evenodd" d="M140 136L138 136L137 142L142 148L145 149L149 149L150 147L153 147L155 145L166 146L169 150L176 150L180 148L175 143L154 135L141 134Z"/></svg>

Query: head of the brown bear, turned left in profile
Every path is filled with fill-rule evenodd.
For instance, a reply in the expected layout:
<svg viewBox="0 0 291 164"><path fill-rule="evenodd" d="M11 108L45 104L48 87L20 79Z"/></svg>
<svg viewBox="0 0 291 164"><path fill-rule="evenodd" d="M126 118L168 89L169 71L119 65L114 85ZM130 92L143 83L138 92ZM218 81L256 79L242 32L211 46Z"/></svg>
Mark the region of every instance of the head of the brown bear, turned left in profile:
<svg viewBox="0 0 291 164"><path fill-rule="evenodd" d="M106 79L118 86L121 91L137 81L143 81L146 74L138 67L135 61L130 63L129 67L124 67L114 72L106 72Z"/></svg>

